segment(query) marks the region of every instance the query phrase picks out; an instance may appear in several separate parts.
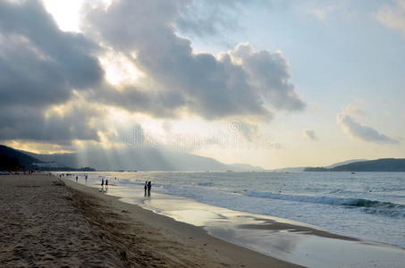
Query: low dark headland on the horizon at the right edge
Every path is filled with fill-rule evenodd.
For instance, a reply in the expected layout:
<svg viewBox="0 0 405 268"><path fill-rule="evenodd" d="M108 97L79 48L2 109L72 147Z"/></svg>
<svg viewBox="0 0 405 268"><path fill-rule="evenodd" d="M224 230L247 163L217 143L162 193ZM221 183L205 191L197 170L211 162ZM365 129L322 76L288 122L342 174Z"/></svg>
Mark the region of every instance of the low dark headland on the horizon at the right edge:
<svg viewBox="0 0 405 268"><path fill-rule="evenodd" d="M405 158L381 158L346 163L333 168L306 168L305 172L405 172Z"/></svg>

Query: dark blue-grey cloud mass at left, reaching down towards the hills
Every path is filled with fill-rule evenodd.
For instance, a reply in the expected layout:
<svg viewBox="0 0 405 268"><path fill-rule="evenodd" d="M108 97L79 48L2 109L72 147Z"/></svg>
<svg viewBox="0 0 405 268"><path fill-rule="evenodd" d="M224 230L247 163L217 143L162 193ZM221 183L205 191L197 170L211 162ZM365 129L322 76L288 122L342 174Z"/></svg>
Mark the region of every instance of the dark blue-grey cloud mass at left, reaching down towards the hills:
<svg viewBox="0 0 405 268"><path fill-rule="evenodd" d="M73 88L103 80L97 49L83 35L58 29L39 1L0 1L0 139L97 139L87 125L94 111L44 115L68 101Z"/></svg>

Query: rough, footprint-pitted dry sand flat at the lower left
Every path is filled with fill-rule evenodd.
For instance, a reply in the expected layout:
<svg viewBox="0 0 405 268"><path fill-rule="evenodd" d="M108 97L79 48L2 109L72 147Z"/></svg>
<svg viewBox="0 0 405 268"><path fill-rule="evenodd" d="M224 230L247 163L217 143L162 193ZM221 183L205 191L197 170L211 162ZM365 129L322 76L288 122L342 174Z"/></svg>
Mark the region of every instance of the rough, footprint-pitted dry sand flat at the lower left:
<svg viewBox="0 0 405 268"><path fill-rule="evenodd" d="M122 267L91 229L62 181L42 175L0 178L1 267Z"/></svg>

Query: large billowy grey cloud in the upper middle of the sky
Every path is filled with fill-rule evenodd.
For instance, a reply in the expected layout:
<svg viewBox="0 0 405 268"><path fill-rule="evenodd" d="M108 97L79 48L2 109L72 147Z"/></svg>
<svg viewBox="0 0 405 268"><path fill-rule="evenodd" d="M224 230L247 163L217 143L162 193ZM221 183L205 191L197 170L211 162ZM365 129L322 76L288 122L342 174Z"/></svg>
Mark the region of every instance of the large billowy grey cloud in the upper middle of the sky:
<svg viewBox="0 0 405 268"><path fill-rule="evenodd" d="M86 32L118 51L136 54L131 60L158 88L154 93L124 91L114 98L115 104L127 104L132 96L140 96L147 104L157 100L157 104L185 108L207 119L231 115L270 118L267 104L288 111L304 107L289 82L288 64L281 54L255 52L246 44L220 58L194 54L190 40L178 37L173 29L187 4L190 1L117 1L108 9L99 7L87 13ZM235 59L241 64L234 63ZM162 103L160 99L171 101ZM167 107L161 108L165 111Z"/></svg>

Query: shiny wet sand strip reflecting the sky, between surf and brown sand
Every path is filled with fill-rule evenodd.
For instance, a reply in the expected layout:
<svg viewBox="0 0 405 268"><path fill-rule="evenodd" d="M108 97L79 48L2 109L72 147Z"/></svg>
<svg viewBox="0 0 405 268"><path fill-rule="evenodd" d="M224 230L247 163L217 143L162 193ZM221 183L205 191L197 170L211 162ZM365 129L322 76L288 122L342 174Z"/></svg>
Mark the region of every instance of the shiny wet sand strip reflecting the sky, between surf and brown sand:
<svg viewBox="0 0 405 268"><path fill-rule="evenodd" d="M140 188L129 189L112 184L108 191L101 192L97 184L91 182L85 186L84 180L79 180L79 183L72 178L63 180L71 182L73 187L91 188L102 197L118 198L123 204L136 205L175 224L203 231L206 236L224 243L291 264L308 267L389 264L390 267L401 267L401 263L405 262L405 250L399 247L355 239L303 222L232 211L185 197L156 193L152 197L144 197ZM158 228L165 229L166 226L163 224ZM181 232L177 236L181 236ZM336 255L336 252L340 254Z"/></svg>

